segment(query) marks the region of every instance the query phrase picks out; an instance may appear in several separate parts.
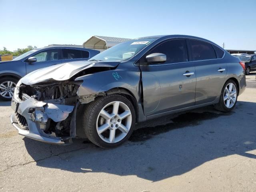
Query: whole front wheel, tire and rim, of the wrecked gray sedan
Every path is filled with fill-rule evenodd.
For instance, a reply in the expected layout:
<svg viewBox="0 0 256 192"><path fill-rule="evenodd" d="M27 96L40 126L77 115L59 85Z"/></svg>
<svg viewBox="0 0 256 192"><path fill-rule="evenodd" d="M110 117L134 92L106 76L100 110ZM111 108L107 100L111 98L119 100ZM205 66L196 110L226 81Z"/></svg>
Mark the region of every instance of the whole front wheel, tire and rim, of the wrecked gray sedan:
<svg viewBox="0 0 256 192"><path fill-rule="evenodd" d="M132 103L118 94L96 98L84 112L85 134L102 148L114 148L124 143L131 136L134 125Z"/></svg>

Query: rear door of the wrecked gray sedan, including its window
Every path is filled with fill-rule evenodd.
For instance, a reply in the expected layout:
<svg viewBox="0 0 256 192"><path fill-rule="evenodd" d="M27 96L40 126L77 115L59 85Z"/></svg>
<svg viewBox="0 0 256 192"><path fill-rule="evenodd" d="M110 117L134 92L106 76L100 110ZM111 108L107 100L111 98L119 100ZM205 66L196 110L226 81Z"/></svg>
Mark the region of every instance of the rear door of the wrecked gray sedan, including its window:
<svg viewBox="0 0 256 192"><path fill-rule="evenodd" d="M227 74L224 51L200 40L189 40L191 59L196 67L196 105L216 99Z"/></svg>

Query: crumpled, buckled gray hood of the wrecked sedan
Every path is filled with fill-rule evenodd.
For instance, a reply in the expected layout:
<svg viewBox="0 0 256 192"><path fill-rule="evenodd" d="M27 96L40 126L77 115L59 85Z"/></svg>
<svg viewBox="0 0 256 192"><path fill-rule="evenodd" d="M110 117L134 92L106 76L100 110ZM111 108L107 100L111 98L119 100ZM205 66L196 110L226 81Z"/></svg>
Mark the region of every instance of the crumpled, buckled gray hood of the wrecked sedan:
<svg viewBox="0 0 256 192"><path fill-rule="evenodd" d="M63 81L68 80L78 72L91 67L116 67L119 62L90 62L73 61L62 64L56 64L46 68L35 70L21 79L26 85L32 85L47 80Z"/></svg>

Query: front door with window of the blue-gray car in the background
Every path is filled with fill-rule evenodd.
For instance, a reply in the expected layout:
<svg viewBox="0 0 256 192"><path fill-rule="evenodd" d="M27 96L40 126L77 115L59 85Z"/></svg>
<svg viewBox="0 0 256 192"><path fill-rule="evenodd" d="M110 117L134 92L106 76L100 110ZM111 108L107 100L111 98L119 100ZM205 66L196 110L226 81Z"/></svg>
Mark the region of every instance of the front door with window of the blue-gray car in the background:
<svg viewBox="0 0 256 192"><path fill-rule="evenodd" d="M47 49L39 53L32 55L36 58L36 62L29 63L26 60L26 73L30 73L34 70L48 67L54 64L60 64L60 50L59 49Z"/></svg>

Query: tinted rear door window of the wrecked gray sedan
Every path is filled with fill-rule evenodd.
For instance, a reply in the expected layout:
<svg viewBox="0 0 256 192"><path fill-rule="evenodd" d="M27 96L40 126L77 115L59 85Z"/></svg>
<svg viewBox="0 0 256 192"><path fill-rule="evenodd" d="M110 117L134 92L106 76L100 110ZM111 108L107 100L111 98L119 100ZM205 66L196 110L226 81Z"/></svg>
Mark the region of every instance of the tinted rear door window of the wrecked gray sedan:
<svg viewBox="0 0 256 192"><path fill-rule="evenodd" d="M216 59L216 54L211 44L197 40L190 40L190 46L193 61Z"/></svg>

